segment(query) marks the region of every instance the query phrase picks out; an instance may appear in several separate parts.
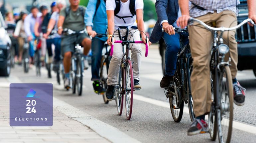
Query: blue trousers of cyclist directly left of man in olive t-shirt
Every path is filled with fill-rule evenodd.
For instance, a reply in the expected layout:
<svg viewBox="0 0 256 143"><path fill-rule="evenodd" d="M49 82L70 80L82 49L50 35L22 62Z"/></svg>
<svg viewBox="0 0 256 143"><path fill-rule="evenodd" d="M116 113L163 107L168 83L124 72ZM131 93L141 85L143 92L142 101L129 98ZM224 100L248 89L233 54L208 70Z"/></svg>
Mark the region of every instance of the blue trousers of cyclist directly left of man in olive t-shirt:
<svg viewBox="0 0 256 143"><path fill-rule="evenodd" d="M48 50L48 55L49 56L53 56L53 52L52 52L52 44L54 44L55 46L55 56L54 59L56 61L59 61L60 55L61 55L61 38L53 38L53 39L47 39L46 40L46 45L47 45L47 50Z"/></svg>

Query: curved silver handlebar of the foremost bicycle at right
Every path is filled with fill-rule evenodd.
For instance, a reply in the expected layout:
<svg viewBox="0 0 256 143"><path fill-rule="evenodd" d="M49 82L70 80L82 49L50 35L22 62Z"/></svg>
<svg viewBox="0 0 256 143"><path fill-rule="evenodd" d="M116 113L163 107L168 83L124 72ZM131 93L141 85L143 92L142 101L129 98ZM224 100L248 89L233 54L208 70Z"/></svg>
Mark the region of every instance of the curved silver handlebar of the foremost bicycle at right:
<svg viewBox="0 0 256 143"><path fill-rule="evenodd" d="M240 28L241 26L243 26L243 25L244 25L245 23L247 23L247 22L250 22L250 23L252 23L253 25L255 25L255 23L253 22L253 20L250 19L250 18L245 19L243 22L241 22L241 23L238 24L237 26L229 27L229 28L227 28L227 27L219 27L219 28L211 27L211 26L205 24L204 22L202 22L201 20L198 20L198 19L195 19L195 18L190 18L190 19L189 19L189 21L188 21L189 25L192 25L192 24L193 24L193 21L196 21L196 22L200 23L201 25L203 25L203 26L204 26L206 29L208 29L209 31L222 31L222 32L238 29L238 28Z"/></svg>

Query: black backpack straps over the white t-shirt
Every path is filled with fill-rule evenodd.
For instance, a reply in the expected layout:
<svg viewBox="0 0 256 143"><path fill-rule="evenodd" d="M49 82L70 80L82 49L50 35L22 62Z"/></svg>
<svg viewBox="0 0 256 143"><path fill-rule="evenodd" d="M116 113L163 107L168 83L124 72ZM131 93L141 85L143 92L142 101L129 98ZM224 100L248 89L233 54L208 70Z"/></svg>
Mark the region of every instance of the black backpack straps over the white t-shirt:
<svg viewBox="0 0 256 143"><path fill-rule="evenodd" d="M124 17L118 16L117 14L120 11L121 3L120 3L120 0L115 0L115 3L116 3L116 8L115 8L114 14L117 18L120 18L120 19L124 20L124 18L132 18L133 16L136 15L135 0L130 0L130 4L129 4L129 9L130 9L130 12L131 12L132 16L124 16ZM125 20L124 20L124 23L126 23Z"/></svg>

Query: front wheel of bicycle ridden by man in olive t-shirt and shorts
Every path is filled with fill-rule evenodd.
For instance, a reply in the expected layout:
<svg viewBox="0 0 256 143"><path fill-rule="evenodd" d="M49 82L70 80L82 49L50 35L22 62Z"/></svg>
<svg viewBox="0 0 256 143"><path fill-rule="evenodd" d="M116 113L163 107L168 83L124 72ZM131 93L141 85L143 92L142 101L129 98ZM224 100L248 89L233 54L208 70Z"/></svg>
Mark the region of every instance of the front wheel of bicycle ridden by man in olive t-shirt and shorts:
<svg viewBox="0 0 256 143"><path fill-rule="evenodd" d="M79 96L82 95L83 90L83 62L81 56L76 59L76 89Z"/></svg>

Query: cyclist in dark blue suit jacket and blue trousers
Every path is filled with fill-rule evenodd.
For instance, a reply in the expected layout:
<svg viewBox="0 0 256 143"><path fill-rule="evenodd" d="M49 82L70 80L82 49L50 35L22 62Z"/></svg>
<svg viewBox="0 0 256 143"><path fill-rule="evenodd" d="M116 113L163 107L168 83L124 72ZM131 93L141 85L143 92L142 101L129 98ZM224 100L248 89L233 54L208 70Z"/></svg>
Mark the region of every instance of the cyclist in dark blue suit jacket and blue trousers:
<svg viewBox="0 0 256 143"><path fill-rule="evenodd" d="M177 53L180 49L180 39L182 38L183 44L186 45L188 40L188 32L181 32L175 34L174 27L177 26L177 18L181 16L181 11L178 7L178 0L157 0L156 12L158 21L150 36L150 41L156 43L163 37L166 43L165 52L165 75L160 82L161 88L168 88L170 82L173 81L173 75L176 70ZM159 23L160 22L160 23ZM166 32L160 32L162 28Z"/></svg>

